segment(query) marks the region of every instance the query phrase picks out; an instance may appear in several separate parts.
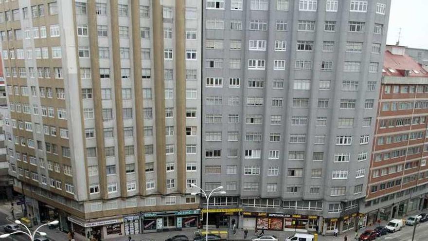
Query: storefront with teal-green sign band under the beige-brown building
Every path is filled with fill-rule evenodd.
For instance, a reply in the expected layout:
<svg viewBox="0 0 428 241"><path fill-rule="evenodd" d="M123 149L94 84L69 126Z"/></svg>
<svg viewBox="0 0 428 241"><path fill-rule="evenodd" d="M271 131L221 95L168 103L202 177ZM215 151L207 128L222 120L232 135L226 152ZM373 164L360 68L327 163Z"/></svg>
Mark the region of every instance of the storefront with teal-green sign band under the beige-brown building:
<svg viewBox="0 0 428 241"><path fill-rule="evenodd" d="M199 210L142 213L143 233L196 227Z"/></svg>

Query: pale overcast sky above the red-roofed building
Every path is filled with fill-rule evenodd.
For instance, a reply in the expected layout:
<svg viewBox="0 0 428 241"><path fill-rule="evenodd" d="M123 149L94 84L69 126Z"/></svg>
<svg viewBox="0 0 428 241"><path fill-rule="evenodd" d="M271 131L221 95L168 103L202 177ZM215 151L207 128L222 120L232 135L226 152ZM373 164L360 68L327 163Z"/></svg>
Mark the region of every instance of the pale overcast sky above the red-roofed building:
<svg viewBox="0 0 428 241"><path fill-rule="evenodd" d="M401 28L400 45L428 49L427 0L391 0L387 44L395 44Z"/></svg>

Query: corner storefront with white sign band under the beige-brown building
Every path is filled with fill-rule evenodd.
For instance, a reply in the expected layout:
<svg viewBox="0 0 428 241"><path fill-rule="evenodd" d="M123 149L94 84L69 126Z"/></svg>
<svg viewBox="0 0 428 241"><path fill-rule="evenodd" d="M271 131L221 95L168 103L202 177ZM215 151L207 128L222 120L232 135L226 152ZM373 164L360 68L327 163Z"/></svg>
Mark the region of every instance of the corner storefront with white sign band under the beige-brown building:
<svg viewBox="0 0 428 241"><path fill-rule="evenodd" d="M71 222L75 233L90 239L92 237L98 240L117 238L123 236L124 219L102 220L97 222L85 222L77 218L67 218Z"/></svg>

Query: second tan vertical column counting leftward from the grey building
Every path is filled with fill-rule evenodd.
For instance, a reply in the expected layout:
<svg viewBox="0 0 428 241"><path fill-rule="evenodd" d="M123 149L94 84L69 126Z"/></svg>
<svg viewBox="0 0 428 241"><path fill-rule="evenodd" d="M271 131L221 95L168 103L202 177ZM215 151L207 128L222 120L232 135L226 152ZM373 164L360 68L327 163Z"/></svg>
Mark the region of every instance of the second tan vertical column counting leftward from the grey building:
<svg viewBox="0 0 428 241"><path fill-rule="evenodd" d="M166 194L165 167L165 80L163 77L163 9L159 0L153 1L153 62L155 72L156 171L158 191Z"/></svg>

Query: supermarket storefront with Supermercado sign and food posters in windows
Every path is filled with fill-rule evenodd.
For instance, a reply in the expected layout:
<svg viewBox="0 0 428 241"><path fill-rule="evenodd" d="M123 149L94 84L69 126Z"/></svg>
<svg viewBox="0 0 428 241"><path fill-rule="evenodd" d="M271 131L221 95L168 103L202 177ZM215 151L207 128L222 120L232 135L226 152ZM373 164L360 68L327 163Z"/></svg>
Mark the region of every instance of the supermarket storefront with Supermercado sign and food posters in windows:
<svg viewBox="0 0 428 241"><path fill-rule="evenodd" d="M244 228L266 230L284 230L295 232L315 232L318 227L318 216L242 212Z"/></svg>

